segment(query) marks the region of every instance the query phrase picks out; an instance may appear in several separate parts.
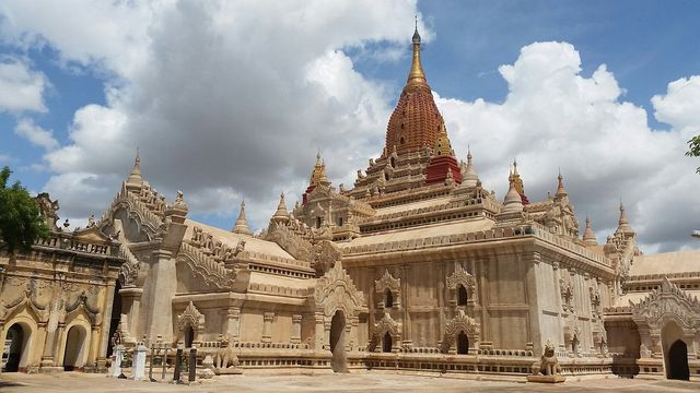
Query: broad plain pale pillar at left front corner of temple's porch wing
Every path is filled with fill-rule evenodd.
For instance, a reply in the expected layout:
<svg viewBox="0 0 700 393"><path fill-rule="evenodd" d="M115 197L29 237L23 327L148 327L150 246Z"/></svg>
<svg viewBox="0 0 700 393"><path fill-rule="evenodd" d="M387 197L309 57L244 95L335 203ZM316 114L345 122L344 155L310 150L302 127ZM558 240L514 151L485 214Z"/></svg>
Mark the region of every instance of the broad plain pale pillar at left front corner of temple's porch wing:
<svg viewBox="0 0 700 393"><path fill-rule="evenodd" d="M163 340L173 340L173 305L172 299L177 289L177 274L175 260L167 250L153 251L153 263L149 274L150 279L150 314L145 334L149 337L163 335ZM140 336L140 335L139 335Z"/></svg>

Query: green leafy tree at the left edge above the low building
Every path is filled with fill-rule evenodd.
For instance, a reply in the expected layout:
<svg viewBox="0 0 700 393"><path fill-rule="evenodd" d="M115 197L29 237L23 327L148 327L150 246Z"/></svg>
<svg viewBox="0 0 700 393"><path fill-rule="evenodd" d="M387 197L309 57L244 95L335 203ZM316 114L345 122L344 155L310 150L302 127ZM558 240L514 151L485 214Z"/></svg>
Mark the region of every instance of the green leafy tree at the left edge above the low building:
<svg viewBox="0 0 700 393"><path fill-rule="evenodd" d="M48 227L39 214L39 205L20 181L8 187L12 171L0 171L0 239L10 254L28 252L38 238L48 237Z"/></svg>

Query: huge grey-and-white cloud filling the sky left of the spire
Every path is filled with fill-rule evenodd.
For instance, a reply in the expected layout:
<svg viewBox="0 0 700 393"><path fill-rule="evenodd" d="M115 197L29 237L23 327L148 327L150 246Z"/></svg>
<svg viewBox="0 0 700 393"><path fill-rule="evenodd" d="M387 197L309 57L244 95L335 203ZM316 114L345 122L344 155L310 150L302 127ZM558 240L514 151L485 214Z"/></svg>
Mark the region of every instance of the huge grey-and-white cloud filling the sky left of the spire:
<svg viewBox="0 0 700 393"><path fill-rule="evenodd" d="M235 215L245 196L258 227L280 191L303 191L318 150L345 181L380 150L392 97L345 50L388 43L407 56L418 13L410 0L10 1L2 12L5 41L50 45L66 64L107 75L107 104L78 110L70 143L46 155L56 196L68 200L69 187L82 188L80 200L116 192L112 177L128 174L139 147L160 191L182 189L192 212L213 215Z"/></svg>

